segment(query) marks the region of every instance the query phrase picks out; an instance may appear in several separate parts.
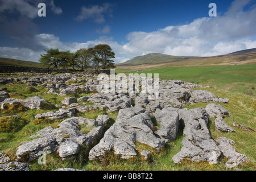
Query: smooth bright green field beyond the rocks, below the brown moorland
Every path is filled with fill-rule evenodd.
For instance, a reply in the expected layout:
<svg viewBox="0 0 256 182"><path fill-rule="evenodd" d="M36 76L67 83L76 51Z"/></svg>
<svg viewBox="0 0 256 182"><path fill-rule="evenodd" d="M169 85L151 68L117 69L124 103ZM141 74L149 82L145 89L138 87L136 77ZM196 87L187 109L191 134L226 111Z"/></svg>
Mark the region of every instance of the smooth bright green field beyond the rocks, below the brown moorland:
<svg viewBox="0 0 256 182"><path fill-rule="evenodd" d="M116 73L133 72L133 69L116 69ZM177 79L203 86L216 86L230 92L243 92L255 95L256 64L253 65L216 65L197 67L154 68L143 73L158 73L163 80Z"/></svg>

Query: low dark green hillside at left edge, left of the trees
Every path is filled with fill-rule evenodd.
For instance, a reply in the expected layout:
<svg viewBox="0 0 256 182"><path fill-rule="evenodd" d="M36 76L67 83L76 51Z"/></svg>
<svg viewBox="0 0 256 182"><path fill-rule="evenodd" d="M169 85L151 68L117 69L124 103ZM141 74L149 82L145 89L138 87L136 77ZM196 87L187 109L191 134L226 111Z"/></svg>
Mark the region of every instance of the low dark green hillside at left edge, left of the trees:
<svg viewBox="0 0 256 182"><path fill-rule="evenodd" d="M43 65L41 63L36 63L33 61L21 61L21 60L10 59L10 58L5 58L5 57L0 57L0 66L1 65L43 68Z"/></svg>

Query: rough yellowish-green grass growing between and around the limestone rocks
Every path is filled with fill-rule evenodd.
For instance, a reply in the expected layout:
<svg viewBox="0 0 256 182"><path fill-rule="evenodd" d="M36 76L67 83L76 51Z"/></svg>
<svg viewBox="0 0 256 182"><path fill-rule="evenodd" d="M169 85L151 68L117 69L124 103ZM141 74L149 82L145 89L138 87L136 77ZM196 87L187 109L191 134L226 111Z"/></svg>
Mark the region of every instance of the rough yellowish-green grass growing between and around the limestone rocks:
<svg viewBox="0 0 256 182"><path fill-rule="evenodd" d="M249 68L248 68L249 69ZM248 71L252 72L252 71ZM250 74L249 74L250 75ZM192 77L193 78L193 77ZM218 77L220 78L220 77ZM255 78L254 78L255 79ZM180 78L180 80L183 80ZM217 78L215 78L217 82ZM223 80L222 80L223 81ZM224 82L224 81L223 81ZM230 81L231 82L231 81ZM242 80L241 82L249 82L246 80ZM251 80L254 82L254 80ZM207 82L208 84L209 82ZM255 82L254 82L255 83ZM221 85L221 84L220 84ZM236 84L234 86L237 86ZM239 85L238 85L239 86ZM37 90L36 92L26 92L26 88L28 87L26 84L7 84L0 85L0 87L6 87L8 89L11 97L13 98L22 98L26 99L32 96L41 96L46 100L52 102L52 104L61 104L61 101L64 100L64 97L67 96L58 96L56 94L44 94L46 92L45 88L42 86L34 86ZM256 169L256 135L255 133L250 133L248 131L243 131L233 126L233 123L239 123L243 126L250 127L251 129L256 129L256 100L253 95L245 94L242 90L238 88L238 90L229 90L225 89L225 87L219 86L217 89L213 88L197 88L197 89L205 89L210 92L216 94L216 96L220 96L222 98L229 98L230 102L228 104L221 104L225 109L227 109L230 115L224 118L224 121L231 127L233 127L236 132L233 133L222 133L219 130L214 129L214 118L210 118L209 130L213 139L217 139L218 137L226 137L234 140L236 143L236 150L241 154L245 154L247 157L247 162L240 164L238 167L242 170L255 171ZM18 92L19 94L17 94ZM88 94L79 94L76 97L88 96ZM195 105L183 105L188 109L193 109L197 107L205 107L209 103L199 103ZM17 147L20 146L20 143L27 142L32 140L30 138L31 135L35 134L37 131L44 129L44 127L48 127L52 125L55 127L58 125L63 119L57 119L51 122L43 122L39 124L35 124L35 115L39 113L47 113L48 111L57 111L58 109L43 109L43 110L32 110L28 109L26 111L14 111L12 113L4 113L0 110L0 117L4 117L7 115L16 114L19 115L26 123L18 131L13 133L0 133L0 151L8 154L12 159L15 158L15 153ZM85 117L90 119L96 119L100 114L106 114L106 111L90 111L88 113L76 113L79 117ZM104 132L113 125L115 119L117 118L118 113L109 114L110 123L104 127ZM155 126L158 126L157 121L153 121ZM86 132L86 131L85 131ZM183 171L193 171L193 170L227 170L225 168L225 163L227 161L226 158L223 158L220 163L217 165L209 164L208 162L191 162L189 160L183 160L180 164L175 164L172 161L172 156L177 154L180 151L182 139L184 138L182 129L179 129L179 133L177 138L165 145L165 147L161 151L155 151L152 148L145 146L142 143L136 142L135 145L138 150L150 150L151 156L149 160L144 160L143 156L138 155L138 157L133 159L121 159L118 155L114 155L113 152L109 152L106 156L105 160L102 162L89 162L88 154L90 148L86 146L82 146L80 148L79 154L73 160L62 160L58 154L47 154L46 156L46 165L38 164L38 161L30 164L30 170L53 170L57 168L66 168L71 167L75 169L87 169L87 170L160 170L160 171L173 171L173 170L183 170ZM97 141L99 142L99 140ZM97 144L94 143L94 144ZM236 169L235 168L235 169ZM229 169L234 170L234 169Z"/></svg>

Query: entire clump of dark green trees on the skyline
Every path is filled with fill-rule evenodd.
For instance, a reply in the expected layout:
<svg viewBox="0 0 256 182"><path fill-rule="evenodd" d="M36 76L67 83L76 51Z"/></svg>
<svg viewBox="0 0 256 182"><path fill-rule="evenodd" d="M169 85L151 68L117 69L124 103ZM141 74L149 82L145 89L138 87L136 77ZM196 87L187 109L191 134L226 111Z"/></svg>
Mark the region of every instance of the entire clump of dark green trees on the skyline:
<svg viewBox="0 0 256 182"><path fill-rule="evenodd" d="M57 49L49 49L45 54L40 55L40 63L47 67L53 68L72 68L84 71L89 67L95 69L115 68L115 53L107 44L98 44L93 48L82 48L71 53L70 51L60 51Z"/></svg>

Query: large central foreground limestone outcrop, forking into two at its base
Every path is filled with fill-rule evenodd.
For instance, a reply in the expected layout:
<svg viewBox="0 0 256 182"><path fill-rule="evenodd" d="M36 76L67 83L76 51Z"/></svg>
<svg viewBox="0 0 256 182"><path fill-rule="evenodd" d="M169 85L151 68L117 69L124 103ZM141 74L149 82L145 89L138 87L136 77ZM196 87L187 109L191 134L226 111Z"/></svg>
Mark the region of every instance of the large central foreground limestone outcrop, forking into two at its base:
<svg viewBox="0 0 256 182"><path fill-rule="evenodd" d="M150 113L142 107L119 110L117 121L90 150L89 160L101 160L107 151L114 151L125 159L137 156L139 151L135 148L135 141L160 150L164 147L164 140L155 137L150 128L152 125Z"/></svg>

